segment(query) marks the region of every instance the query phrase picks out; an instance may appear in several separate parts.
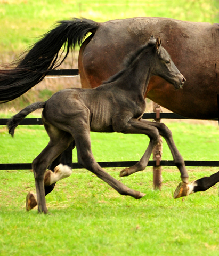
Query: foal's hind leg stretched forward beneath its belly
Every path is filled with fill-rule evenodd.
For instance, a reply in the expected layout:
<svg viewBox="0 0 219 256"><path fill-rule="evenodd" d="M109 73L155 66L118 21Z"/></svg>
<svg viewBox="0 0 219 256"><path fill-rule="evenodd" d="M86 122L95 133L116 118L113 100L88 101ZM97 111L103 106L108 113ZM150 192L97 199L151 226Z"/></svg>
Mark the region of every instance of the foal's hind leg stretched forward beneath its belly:
<svg viewBox="0 0 219 256"><path fill-rule="evenodd" d="M119 194L129 195L135 199L142 198L145 194L126 187L123 183L111 177L100 167L100 165L95 161L91 151L90 127L87 127L86 129L84 125L83 129L84 130L82 131L81 129L76 128L72 131L72 136L74 136L77 147L78 164L93 172L103 181L107 182L112 188L118 191Z"/></svg>

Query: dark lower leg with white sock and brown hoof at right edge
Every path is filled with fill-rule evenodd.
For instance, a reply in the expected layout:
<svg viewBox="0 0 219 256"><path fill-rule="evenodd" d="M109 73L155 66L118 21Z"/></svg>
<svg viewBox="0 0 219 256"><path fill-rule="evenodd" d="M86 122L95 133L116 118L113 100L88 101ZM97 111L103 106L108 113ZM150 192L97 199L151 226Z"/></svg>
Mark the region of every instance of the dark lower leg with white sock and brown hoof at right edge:
<svg viewBox="0 0 219 256"><path fill-rule="evenodd" d="M191 184L181 182L177 186L173 197L176 199L182 196L191 195L199 191L206 191L210 187L214 186L217 182L219 182L219 172L212 174L210 177L203 177L192 182Z"/></svg>

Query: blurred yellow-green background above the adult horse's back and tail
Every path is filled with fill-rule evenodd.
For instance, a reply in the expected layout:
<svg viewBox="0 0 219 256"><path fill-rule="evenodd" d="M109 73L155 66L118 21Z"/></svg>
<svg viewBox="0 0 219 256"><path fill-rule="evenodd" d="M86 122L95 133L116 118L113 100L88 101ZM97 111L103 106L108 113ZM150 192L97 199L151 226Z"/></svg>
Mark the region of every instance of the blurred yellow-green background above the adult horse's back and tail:
<svg viewBox="0 0 219 256"><path fill-rule="evenodd" d="M0 0L0 52L20 52L54 22L71 17L103 22L155 16L214 23L216 4L214 0Z"/></svg>

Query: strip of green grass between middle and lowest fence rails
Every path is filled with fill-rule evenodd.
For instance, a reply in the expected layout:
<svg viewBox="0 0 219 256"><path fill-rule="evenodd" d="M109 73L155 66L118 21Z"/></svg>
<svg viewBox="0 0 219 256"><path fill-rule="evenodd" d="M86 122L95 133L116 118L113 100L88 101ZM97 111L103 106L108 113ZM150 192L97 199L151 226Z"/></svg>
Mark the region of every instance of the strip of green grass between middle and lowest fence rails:
<svg viewBox="0 0 219 256"><path fill-rule="evenodd" d="M168 127L184 159L219 159L217 126L172 122L168 123ZM41 125L20 125L15 130L14 138L2 126L0 136L0 163L31 163L48 143L48 135ZM149 143L149 138L142 134L92 132L91 140L96 161L136 161ZM164 139L163 147L163 159L172 159ZM76 150L74 153L74 162L77 162Z"/></svg>

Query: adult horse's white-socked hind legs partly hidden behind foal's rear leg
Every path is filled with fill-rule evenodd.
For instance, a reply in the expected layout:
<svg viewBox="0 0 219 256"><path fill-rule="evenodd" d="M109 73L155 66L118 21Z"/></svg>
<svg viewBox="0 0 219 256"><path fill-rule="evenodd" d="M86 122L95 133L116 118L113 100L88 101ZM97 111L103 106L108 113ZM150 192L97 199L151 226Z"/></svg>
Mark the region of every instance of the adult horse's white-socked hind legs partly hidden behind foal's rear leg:
<svg viewBox="0 0 219 256"><path fill-rule="evenodd" d="M44 177L45 196L52 192L57 181L71 175L72 150L74 148L75 142L73 141L48 167ZM26 197L26 211L33 209L35 206L37 206L37 195L34 191L30 191Z"/></svg>

